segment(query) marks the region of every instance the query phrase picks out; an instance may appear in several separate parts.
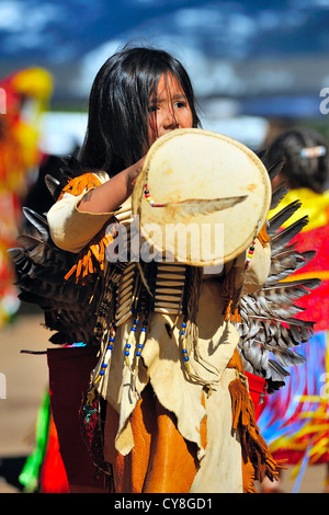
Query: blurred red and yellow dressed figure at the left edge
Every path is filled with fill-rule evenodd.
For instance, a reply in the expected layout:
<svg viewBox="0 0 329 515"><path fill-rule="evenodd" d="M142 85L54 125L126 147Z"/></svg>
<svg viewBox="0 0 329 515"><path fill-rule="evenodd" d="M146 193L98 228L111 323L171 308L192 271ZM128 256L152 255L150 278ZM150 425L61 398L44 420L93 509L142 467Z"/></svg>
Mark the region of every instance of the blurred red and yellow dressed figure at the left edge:
<svg viewBox="0 0 329 515"><path fill-rule="evenodd" d="M22 202L43 160L38 144L42 116L48 107L53 80L42 68L16 71L0 81L4 92L0 118L0 328L10 322L20 302L7 253L15 247Z"/></svg>

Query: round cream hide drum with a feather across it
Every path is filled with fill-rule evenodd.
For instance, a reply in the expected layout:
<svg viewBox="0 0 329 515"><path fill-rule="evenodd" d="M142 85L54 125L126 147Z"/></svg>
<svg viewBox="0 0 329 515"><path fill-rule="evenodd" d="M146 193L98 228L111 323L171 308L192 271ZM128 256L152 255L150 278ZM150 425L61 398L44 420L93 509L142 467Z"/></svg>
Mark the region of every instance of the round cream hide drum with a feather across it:
<svg viewBox="0 0 329 515"><path fill-rule="evenodd" d="M245 145L209 130L177 129L150 147L133 215L163 261L218 265L248 249L271 195L265 167Z"/></svg>

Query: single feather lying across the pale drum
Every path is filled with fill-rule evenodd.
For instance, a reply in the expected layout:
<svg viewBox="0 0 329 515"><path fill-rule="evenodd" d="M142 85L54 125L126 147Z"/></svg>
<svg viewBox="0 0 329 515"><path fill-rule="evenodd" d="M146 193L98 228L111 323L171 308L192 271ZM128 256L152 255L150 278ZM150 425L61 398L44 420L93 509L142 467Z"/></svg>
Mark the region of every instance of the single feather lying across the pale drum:
<svg viewBox="0 0 329 515"><path fill-rule="evenodd" d="M177 215L184 216L195 216L195 215L209 215L214 211L219 211L223 209L228 209L229 207L243 202L247 198L247 195L236 196L236 197L226 197L226 198L194 198L186 199L177 203L164 204L164 206L170 206L172 209L179 209Z"/></svg>

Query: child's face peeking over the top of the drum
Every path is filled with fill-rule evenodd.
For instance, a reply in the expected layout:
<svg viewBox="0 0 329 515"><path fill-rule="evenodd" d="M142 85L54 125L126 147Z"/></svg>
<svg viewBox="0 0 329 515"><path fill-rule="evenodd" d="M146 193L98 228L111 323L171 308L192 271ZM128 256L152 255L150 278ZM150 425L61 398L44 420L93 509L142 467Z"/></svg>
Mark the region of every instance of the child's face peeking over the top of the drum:
<svg viewBox="0 0 329 515"><path fill-rule="evenodd" d="M157 99L150 99L149 144L175 128L192 128L193 115L179 81L163 75Z"/></svg>

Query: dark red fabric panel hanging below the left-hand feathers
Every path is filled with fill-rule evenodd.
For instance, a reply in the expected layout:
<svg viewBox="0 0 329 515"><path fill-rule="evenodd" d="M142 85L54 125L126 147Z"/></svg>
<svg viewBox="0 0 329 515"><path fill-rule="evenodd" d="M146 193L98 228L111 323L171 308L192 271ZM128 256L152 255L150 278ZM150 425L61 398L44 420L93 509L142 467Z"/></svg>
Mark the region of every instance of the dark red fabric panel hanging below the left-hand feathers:
<svg viewBox="0 0 329 515"><path fill-rule="evenodd" d="M97 469L82 439L79 420L82 397L97 364L97 348L50 348L47 358L52 413L70 492L105 493L104 476L95 478Z"/></svg>

